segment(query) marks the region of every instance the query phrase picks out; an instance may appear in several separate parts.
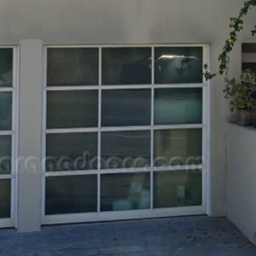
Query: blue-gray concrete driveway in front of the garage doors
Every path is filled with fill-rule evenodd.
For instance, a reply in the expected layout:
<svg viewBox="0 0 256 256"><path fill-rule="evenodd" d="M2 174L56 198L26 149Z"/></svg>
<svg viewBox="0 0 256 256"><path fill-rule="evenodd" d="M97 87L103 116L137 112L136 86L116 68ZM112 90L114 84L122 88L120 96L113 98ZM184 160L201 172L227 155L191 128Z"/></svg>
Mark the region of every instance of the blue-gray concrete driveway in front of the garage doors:
<svg viewBox="0 0 256 256"><path fill-rule="evenodd" d="M1 256L255 256L226 218L173 217L0 230Z"/></svg>

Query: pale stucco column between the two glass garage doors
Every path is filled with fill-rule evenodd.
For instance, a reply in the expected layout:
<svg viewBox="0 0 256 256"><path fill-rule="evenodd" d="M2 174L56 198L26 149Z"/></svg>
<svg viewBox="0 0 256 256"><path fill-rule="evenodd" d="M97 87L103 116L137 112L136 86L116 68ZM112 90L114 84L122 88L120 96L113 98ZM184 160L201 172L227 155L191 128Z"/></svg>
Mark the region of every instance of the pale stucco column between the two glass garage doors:
<svg viewBox="0 0 256 256"><path fill-rule="evenodd" d="M41 226L42 41L20 41L18 207L19 232Z"/></svg>

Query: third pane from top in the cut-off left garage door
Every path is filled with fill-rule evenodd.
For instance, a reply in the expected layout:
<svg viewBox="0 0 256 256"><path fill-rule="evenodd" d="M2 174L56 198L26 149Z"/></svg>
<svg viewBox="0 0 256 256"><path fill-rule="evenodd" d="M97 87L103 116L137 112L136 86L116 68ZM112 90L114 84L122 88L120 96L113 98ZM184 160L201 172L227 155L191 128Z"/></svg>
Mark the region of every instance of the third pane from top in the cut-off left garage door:
<svg viewBox="0 0 256 256"><path fill-rule="evenodd" d="M12 136L0 136L0 174L11 173Z"/></svg>

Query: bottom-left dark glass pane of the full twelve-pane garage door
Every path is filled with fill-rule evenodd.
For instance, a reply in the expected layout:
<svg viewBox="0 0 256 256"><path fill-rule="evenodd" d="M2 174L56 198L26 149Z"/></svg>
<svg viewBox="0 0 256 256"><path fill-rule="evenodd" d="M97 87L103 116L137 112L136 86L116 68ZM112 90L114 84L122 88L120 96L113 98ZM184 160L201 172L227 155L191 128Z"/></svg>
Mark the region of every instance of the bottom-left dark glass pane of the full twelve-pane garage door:
<svg viewBox="0 0 256 256"><path fill-rule="evenodd" d="M96 211L97 175L46 178L46 215Z"/></svg>

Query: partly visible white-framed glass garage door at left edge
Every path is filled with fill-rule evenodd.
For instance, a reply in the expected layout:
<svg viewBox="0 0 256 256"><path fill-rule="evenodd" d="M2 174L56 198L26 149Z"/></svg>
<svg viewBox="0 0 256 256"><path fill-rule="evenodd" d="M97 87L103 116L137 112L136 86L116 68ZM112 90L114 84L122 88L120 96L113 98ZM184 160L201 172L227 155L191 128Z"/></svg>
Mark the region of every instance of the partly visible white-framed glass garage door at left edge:
<svg viewBox="0 0 256 256"><path fill-rule="evenodd" d="M0 48L0 227L14 225L16 51Z"/></svg>

